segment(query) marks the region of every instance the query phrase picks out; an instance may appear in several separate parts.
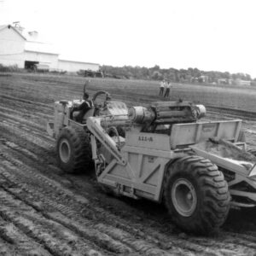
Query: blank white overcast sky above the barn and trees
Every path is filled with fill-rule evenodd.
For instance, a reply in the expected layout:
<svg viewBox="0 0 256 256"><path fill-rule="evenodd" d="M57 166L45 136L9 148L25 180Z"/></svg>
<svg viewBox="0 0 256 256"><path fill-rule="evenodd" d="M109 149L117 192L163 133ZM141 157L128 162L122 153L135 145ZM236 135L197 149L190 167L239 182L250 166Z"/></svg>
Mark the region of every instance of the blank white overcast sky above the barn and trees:
<svg viewBox="0 0 256 256"><path fill-rule="evenodd" d="M256 78L254 0L0 0L63 58L100 65L249 73Z"/></svg>

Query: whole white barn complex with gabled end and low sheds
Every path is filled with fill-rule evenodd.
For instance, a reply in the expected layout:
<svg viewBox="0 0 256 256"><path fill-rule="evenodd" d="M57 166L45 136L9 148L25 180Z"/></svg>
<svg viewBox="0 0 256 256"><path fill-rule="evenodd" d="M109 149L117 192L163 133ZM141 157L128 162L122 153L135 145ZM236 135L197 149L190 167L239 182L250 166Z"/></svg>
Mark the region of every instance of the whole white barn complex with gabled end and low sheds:
<svg viewBox="0 0 256 256"><path fill-rule="evenodd" d="M0 26L0 64L3 66L17 65L30 69L35 64L40 64L47 65L49 71L99 71L99 64L60 60L59 56L60 53L52 44L38 39L38 32L25 32L19 24Z"/></svg>

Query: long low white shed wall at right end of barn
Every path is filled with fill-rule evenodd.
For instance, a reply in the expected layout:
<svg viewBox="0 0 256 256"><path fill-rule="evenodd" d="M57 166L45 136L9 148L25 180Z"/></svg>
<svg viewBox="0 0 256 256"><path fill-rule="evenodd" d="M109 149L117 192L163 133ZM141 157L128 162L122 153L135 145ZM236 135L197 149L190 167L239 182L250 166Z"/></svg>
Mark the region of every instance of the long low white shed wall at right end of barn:
<svg viewBox="0 0 256 256"><path fill-rule="evenodd" d="M64 70L67 72L77 72L80 69L98 71L100 69L100 65L96 64L96 63L59 60L58 61L58 69Z"/></svg>

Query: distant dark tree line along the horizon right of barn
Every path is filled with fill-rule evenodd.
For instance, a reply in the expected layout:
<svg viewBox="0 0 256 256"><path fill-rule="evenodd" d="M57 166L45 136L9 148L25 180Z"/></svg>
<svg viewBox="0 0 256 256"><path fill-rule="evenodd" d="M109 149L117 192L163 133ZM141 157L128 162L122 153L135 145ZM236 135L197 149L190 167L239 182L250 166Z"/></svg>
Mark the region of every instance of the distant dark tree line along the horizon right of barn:
<svg viewBox="0 0 256 256"><path fill-rule="evenodd" d="M154 67L112 67L102 66L102 73L105 77L116 79L150 79L162 80L166 79L172 82L218 82L218 79L241 79L252 81L253 79L247 73L229 73L219 71L203 71L198 68L189 67L188 69L176 68L160 68L155 65ZM206 81L207 80L207 81ZM256 79L254 79L256 80Z"/></svg>

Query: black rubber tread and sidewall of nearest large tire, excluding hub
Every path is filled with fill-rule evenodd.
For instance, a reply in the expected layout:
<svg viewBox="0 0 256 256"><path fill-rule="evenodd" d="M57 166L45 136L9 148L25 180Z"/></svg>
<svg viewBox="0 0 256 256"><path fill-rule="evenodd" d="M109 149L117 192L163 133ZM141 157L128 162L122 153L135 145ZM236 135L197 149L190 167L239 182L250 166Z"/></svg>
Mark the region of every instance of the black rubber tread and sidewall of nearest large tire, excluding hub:
<svg viewBox="0 0 256 256"><path fill-rule="evenodd" d="M170 187L173 178L180 174L192 177L201 191L201 208L197 206L189 218L179 215L172 205ZM174 223L196 234L218 230L230 208L230 193L223 173L210 160L195 155L178 159L169 166L164 180L164 199Z"/></svg>

